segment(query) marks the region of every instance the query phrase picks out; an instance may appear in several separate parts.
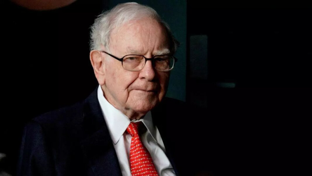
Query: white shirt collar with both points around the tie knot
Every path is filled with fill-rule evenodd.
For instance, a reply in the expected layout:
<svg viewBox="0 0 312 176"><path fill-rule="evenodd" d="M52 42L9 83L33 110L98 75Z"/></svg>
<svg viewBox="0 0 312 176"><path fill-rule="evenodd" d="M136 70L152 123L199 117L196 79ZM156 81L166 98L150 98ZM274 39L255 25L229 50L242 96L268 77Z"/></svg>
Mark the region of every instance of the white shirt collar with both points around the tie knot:
<svg viewBox="0 0 312 176"><path fill-rule="evenodd" d="M101 86L98 88L98 100L100 107L106 122L106 125L110 131L110 137L113 140L113 143L116 144L120 137L124 134L127 127L130 124L130 119L122 113L120 110L116 109L112 104L110 104L104 97ZM147 131L151 134L153 139L156 140L156 130L153 125L152 113L149 111L145 114L144 118L139 120L132 120L132 122L142 121Z"/></svg>

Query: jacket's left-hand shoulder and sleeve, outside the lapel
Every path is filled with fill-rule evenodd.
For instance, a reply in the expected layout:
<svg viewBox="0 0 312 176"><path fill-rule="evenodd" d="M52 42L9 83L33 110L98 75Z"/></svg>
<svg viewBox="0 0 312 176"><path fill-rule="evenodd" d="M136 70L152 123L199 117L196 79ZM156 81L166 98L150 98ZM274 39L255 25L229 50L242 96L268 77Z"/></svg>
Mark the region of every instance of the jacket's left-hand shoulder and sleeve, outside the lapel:
<svg viewBox="0 0 312 176"><path fill-rule="evenodd" d="M18 175L44 173L52 176L56 175L56 169L61 173L67 172L66 169L75 172L72 167L79 164L76 155L81 155L82 118L82 104L76 103L44 113L27 123L20 147ZM60 160L61 164L57 164Z"/></svg>

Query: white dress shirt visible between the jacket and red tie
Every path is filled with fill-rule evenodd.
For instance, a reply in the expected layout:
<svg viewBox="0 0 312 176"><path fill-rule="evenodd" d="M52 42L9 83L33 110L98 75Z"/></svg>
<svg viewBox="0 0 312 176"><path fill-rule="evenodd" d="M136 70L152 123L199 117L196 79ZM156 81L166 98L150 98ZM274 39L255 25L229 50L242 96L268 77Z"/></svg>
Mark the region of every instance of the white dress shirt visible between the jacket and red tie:
<svg viewBox="0 0 312 176"><path fill-rule="evenodd" d="M101 86L98 88L98 100L117 153L121 173L123 176L131 176L129 158L132 137L125 132L130 124L130 119L106 100ZM141 140L151 154L159 176L175 176L171 163L165 154L166 150L160 133L157 127L153 125L151 112L145 114L144 118L131 122L139 121L142 121L147 128L146 132L141 135Z"/></svg>

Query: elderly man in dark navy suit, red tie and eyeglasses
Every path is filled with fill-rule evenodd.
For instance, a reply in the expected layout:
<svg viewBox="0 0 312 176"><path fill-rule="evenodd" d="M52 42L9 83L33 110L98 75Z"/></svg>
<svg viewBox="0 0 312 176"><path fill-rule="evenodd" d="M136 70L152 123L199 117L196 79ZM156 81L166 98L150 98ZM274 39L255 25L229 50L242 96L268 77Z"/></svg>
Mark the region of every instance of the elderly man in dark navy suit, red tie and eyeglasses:
<svg viewBox="0 0 312 176"><path fill-rule="evenodd" d="M150 7L124 3L101 14L90 51L99 87L27 124L18 175L193 173L190 132L181 123L187 108L164 98L176 48Z"/></svg>

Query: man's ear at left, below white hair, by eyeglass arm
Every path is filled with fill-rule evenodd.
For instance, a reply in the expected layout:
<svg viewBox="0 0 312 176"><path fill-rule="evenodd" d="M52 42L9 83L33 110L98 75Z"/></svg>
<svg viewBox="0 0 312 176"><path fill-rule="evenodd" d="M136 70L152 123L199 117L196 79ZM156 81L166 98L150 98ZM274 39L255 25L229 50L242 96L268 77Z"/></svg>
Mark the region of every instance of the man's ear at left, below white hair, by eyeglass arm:
<svg viewBox="0 0 312 176"><path fill-rule="evenodd" d="M102 60L102 53L98 50L90 51L90 61L96 79L100 85L105 84L105 64Z"/></svg>

